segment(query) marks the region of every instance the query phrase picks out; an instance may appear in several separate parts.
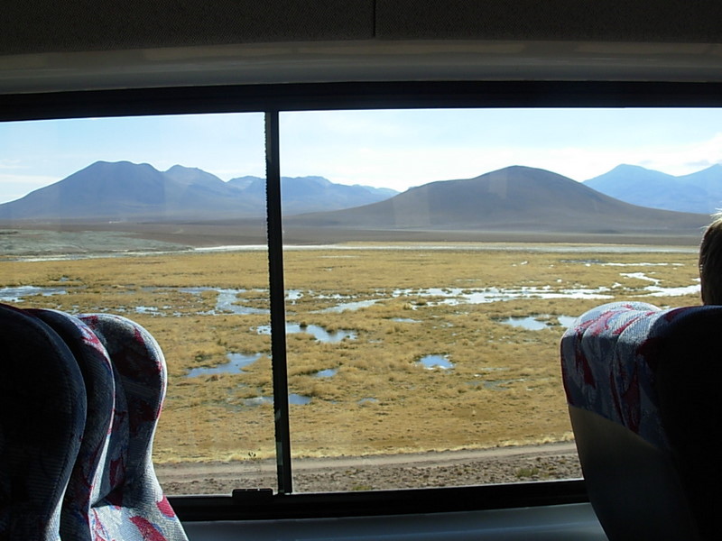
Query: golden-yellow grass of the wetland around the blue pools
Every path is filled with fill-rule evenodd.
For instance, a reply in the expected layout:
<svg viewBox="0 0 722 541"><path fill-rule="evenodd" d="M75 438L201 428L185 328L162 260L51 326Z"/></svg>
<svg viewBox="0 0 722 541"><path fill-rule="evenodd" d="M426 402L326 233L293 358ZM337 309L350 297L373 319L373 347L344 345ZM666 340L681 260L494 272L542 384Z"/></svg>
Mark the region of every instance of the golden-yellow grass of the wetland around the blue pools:
<svg viewBox="0 0 722 541"><path fill-rule="evenodd" d="M290 392L310 398L291 407L296 456L569 439L558 317L623 299L699 304L696 293L665 296L649 289L698 283L694 250L359 243L289 251L284 259L286 288L293 292L288 322L356 334L338 343L288 335ZM257 330L269 319L265 252L0 260L0 289L31 285L61 291L23 297L18 306L120 313L162 345L170 382L157 462L273 455L273 407L264 399L273 395L270 337ZM231 308L258 313L218 307L218 289L240 289ZM507 299L475 304L464 298L483 291ZM655 291L660 296L650 297ZM364 300L376 302L329 311ZM504 323L526 316L547 326ZM239 373L188 377L193 368L227 363L228 353L262 356ZM429 354L444 356L453 368L422 367L418 361ZM336 372L319 377L325 370Z"/></svg>

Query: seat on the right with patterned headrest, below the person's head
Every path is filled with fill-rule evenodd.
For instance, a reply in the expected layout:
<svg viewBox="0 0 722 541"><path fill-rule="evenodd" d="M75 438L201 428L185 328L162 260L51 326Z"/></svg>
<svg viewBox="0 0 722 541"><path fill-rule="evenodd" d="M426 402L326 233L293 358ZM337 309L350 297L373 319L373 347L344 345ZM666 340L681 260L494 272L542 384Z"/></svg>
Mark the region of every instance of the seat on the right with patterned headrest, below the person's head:
<svg viewBox="0 0 722 541"><path fill-rule="evenodd" d="M561 339L589 500L610 540L718 538L722 307L616 302Z"/></svg>

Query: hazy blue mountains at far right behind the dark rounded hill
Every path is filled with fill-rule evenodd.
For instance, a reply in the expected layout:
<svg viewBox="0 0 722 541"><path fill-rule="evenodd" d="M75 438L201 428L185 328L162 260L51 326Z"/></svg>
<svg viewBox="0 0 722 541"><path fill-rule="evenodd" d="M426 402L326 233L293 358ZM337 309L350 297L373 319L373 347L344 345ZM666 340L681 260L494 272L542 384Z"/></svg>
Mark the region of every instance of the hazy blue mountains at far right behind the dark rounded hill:
<svg viewBox="0 0 722 541"><path fill-rule="evenodd" d="M584 184L634 205L712 214L722 208L722 165L674 177L634 165L619 165Z"/></svg>

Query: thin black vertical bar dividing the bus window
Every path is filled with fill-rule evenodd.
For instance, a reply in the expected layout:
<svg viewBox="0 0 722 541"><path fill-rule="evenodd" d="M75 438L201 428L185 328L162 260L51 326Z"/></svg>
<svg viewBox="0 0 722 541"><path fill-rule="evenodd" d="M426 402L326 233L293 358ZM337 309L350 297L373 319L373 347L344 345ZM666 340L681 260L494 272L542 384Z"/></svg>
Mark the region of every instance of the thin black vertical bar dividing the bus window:
<svg viewBox="0 0 722 541"><path fill-rule="evenodd" d="M281 211L281 152L279 111L265 111L266 221L268 278L271 303L271 366L276 468L280 494L292 492L291 430L289 426L286 315L283 286L283 227Z"/></svg>

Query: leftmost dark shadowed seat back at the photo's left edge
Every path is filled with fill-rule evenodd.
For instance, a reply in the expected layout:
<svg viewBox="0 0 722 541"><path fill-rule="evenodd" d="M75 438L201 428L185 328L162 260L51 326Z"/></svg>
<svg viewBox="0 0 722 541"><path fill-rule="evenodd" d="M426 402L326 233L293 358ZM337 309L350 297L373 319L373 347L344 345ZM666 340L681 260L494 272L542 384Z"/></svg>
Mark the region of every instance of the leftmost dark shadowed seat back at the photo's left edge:
<svg viewBox="0 0 722 541"><path fill-rule="evenodd" d="M0 362L0 539L59 541L86 420L82 375L57 333L6 305Z"/></svg>

